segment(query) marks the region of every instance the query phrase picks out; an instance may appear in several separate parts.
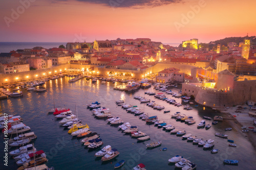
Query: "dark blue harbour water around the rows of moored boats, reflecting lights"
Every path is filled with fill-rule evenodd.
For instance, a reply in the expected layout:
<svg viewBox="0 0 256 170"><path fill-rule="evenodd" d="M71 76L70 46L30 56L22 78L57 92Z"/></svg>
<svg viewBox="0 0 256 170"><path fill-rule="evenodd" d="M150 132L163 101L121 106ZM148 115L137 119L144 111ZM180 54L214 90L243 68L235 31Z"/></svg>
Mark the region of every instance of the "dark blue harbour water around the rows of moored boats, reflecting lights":
<svg viewBox="0 0 256 170"><path fill-rule="evenodd" d="M49 167L54 166L55 169L114 169L115 163L124 159L125 165L121 169L131 169L139 163L146 165L146 169L176 169L174 164L168 164L168 159L175 155L182 155L189 158L190 161L197 164L197 169L254 169L255 168L255 149L252 147L248 139L241 135L236 129L232 131L224 131L229 127L224 122L219 122L212 126L209 130L197 129L197 124L202 120L203 115L214 117L216 112L210 109L197 107L193 110L183 110L183 107L169 105L164 101L155 99L154 96L144 94L143 89L139 89L132 93L113 90L114 85L111 82L101 84L98 80L92 83L86 79L79 80L75 83L69 83L68 77L57 80L51 80L46 83L47 92L36 93L34 91L23 90L23 98L9 98L2 100L0 111L2 113L20 115L24 118L24 124L31 127L37 135L34 141L37 150L44 150L47 153ZM170 87L173 91L179 91L180 88ZM153 88L146 91L154 91ZM146 96L146 98L156 101L157 104L163 105L166 109L170 109L170 113L164 114L163 111L154 110L145 104L140 104L138 100L133 99L134 95ZM172 98L170 95L169 98ZM164 120L168 124L172 124L179 130L186 130L187 133L204 139L215 140L214 149L219 149L218 154L211 154L210 150L203 150L198 145L182 140L181 137L170 135L170 133L154 127L154 125L146 125L144 121L131 113L126 113L120 106L115 104L117 100L125 100L125 103L137 105L146 113L158 115L160 120ZM181 101L181 99L177 99ZM145 132L151 136L151 140L137 143L137 139L125 135L117 127L110 126L104 119L96 119L91 111L87 109L87 104L98 101L102 106L110 108L112 115L120 116L124 122L130 122L132 126L138 126L139 131ZM112 148L116 148L120 155L111 162L102 163L100 159L94 157L94 154L100 149L89 151L81 145L80 140L73 138L68 131L59 126L58 121L52 114L48 114L47 110L55 106L70 108L75 111L77 104L78 118L83 124L88 124L92 132L100 134L103 141L103 148L110 144ZM181 112L187 116L195 117L197 123L188 126L181 122L176 122L170 118L175 112ZM206 120L206 123L211 123ZM215 132L224 132L229 135L229 139L235 140L237 148L228 147L227 139L219 138L214 135ZM3 150L3 134L0 135L0 149ZM151 141L162 140L162 145L153 150L145 150L146 143ZM167 148L167 151L162 151ZM16 148L9 148L9 152ZM4 152L0 152L3 159ZM239 165L224 165L223 159L237 159ZM0 163L0 169L16 169L18 166L14 160L9 157L9 166Z"/></svg>

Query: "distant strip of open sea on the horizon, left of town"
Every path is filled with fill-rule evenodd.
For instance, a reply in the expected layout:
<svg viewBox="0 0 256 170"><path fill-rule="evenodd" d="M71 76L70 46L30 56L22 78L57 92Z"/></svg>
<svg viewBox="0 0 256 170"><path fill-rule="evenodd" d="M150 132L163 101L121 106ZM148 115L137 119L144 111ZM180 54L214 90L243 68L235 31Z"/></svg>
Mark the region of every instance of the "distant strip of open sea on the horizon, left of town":
<svg viewBox="0 0 256 170"><path fill-rule="evenodd" d="M0 53L9 53L12 50L23 50L24 48L33 48L35 46L49 49L59 47L61 44L66 46L67 42L0 42Z"/></svg>

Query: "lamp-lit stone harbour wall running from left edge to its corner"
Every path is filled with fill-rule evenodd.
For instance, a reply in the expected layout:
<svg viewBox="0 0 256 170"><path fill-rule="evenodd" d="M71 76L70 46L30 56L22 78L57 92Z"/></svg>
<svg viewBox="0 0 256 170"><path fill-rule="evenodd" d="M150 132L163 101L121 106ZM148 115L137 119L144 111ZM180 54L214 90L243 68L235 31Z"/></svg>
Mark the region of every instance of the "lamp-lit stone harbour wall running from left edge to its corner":
<svg viewBox="0 0 256 170"><path fill-rule="evenodd" d="M70 64L63 64L63 65L53 66L51 68L36 69L31 71L15 72L11 74L0 74L0 84L3 85L3 84L11 84L11 83L16 83L21 81L41 79L41 78L57 75L60 72L64 72L65 68L66 69L70 68Z"/></svg>

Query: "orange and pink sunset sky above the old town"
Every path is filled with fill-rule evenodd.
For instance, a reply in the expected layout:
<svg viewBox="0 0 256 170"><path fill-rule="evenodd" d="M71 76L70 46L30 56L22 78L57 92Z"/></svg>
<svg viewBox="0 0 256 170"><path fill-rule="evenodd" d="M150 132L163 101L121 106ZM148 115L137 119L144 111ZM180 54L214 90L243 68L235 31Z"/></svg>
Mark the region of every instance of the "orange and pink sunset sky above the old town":
<svg viewBox="0 0 256 170"><path fill-rule="evenodd" d="M256 35L255 0L2 0L0 41L179 43Z"/></svg>

